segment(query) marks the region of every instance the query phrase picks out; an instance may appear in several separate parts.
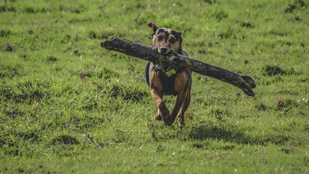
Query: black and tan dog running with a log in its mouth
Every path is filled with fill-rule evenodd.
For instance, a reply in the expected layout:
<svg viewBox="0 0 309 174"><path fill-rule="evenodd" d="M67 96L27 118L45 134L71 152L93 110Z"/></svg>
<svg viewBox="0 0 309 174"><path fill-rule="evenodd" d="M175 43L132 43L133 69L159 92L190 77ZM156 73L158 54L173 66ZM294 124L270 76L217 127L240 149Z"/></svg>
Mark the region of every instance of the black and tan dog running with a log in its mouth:
<svg viewBox="0 0 309 174"><path fill-rule="evenodd" d="M157 48L162 54L173 51L188 56L181 49L181 32L159 28L154 23L149 23L148 26L152 28L152 47ZM165 125L169 126L178 115L179 125L184 126L184 112L190 104L191 71L147 62L145 76L151 96L158 106L158 114L155 119L162 120ZM177 95L175 106L171 112L163 102L163 95Z"/></svg>

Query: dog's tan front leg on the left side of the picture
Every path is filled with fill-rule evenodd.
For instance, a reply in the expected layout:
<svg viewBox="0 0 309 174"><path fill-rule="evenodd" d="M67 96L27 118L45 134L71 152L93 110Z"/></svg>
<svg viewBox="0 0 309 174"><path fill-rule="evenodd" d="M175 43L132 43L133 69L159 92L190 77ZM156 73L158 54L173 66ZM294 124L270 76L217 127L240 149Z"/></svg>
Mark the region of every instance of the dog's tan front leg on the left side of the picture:
<svg viewBox="0 0 309 174"><path fill-rule="evenodd" d="M155 100L155 103L158 106L158 114L155 116L156 120L161 120L164 122L165 125L170 126L173 124L174 119L172 119L168 109L166 108L163 102L163 96L161 93L155 89L151 89L151 96Z"/></svg>

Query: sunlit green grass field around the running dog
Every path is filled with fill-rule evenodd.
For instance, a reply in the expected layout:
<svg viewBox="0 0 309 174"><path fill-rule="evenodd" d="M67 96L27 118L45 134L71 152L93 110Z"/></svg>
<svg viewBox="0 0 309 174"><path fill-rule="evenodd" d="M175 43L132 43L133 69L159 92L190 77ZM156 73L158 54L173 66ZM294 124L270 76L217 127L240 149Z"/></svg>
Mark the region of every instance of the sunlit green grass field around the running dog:
<svg viewBox="0 0 309 174"><path fill-rule="evenodd" d="M309 172L309 2L4 0L0 12L0 173ZM193 73L186 126L155 121L146 61L100 47L151 45L149 22L252 77L256 99Z"/></svg>

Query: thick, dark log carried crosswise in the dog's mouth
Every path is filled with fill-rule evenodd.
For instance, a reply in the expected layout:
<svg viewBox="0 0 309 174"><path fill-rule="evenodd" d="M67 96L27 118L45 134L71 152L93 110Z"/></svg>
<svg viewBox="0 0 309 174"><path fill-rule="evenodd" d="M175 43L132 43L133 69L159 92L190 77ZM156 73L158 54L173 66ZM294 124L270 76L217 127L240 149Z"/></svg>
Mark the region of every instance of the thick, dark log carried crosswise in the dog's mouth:
<svg viewBox="0 0 309 174"><path fill-rule="evenodd" d="M101 42L101 47L107 49L108 51L117 51L129 56L153 62L154 64L191 70L198 74L230 83L242 89L247 95L252 97L255 96L252 88L255 88L256 85L251 77L238 74L218 66L210 65L190 57L176 54L174 52L161 54L158 52L158 49L154 49L153 47L120 39L115 36L111 37L110 40Z"/></svg>

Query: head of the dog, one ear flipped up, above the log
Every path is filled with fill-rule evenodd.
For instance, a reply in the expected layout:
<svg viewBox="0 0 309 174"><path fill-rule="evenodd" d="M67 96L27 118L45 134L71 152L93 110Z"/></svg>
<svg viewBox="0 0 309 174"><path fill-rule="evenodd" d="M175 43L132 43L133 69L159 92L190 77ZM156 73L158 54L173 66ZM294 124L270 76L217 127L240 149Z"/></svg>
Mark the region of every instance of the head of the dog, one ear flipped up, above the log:
<svg viewBox="0 0 309 174"><path fill-rule="evenodd" d="M181 54L181 32L168 28L159 28L154 23L148 23L152 28L152 46L157 47L159 53L167 54L174 51Z"/></svg>

